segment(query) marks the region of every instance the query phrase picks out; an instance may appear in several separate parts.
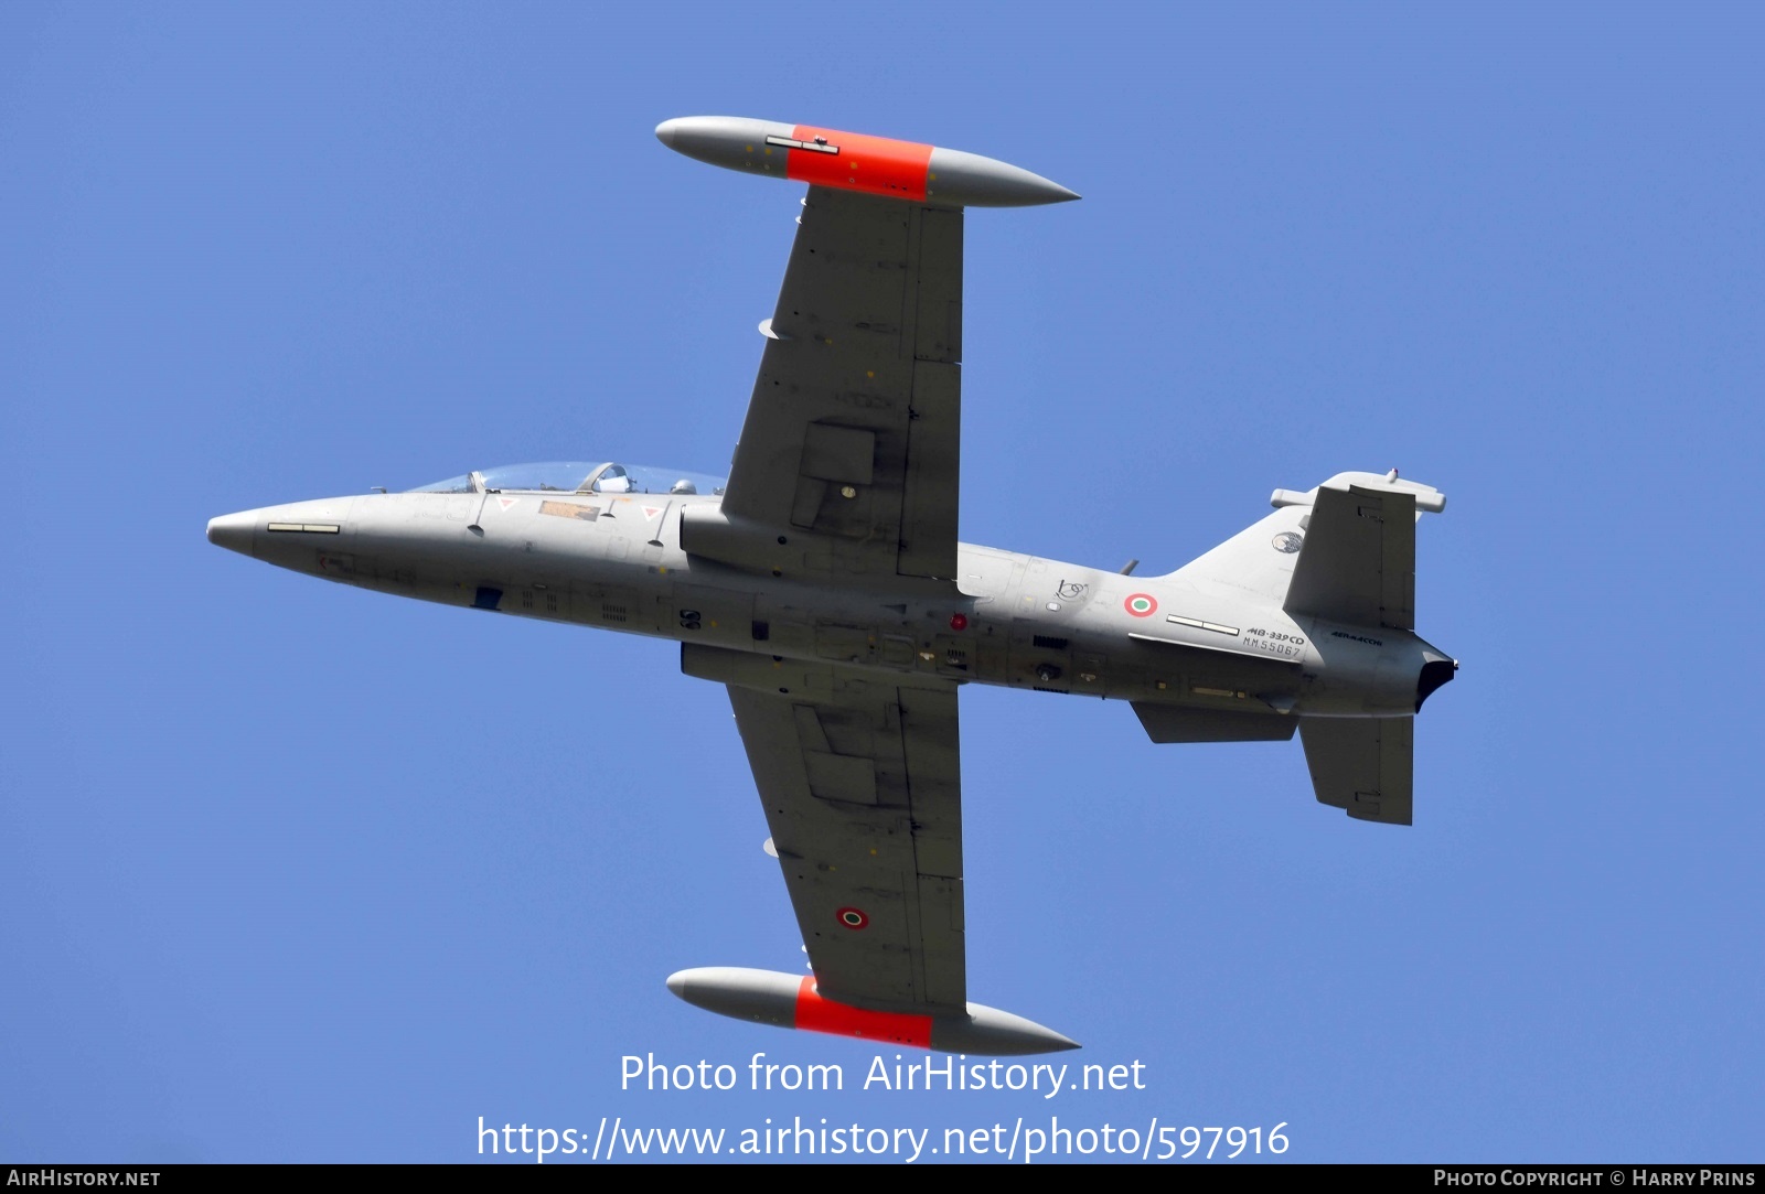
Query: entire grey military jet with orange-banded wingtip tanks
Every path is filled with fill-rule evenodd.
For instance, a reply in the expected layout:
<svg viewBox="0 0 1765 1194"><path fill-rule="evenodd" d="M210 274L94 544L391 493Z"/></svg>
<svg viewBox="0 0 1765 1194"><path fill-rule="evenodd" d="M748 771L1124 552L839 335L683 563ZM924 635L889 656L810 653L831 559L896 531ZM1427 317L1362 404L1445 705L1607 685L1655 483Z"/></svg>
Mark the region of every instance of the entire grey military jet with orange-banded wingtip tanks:
<svg viewBox="0 0 1765 1194"><path fill-rule="evenodd" d="M221 547L327 580L676 638L729 688L810 975L667 979L743 1019L964 1053L1075 1048L969 1002L957 693L1124 700L1154 743L1299 734L1317 799L1410 824L1412 727L1456 661L1414 633L1396 471L1274 490L1167 577L957 540L962 220L1077 199L999 160L812 125L664 122L807 182L729 478L602 462L267 506Z"/></svg>

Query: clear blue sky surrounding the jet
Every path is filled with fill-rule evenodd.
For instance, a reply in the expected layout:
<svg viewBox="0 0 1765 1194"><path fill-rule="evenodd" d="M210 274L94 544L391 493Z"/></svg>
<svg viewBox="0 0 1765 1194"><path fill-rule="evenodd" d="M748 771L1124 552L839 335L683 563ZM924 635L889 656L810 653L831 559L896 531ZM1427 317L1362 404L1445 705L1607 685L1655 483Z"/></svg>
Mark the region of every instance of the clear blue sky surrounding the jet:
<svg viewBox="0 0 1765 1194"><path fill-rule="evenodd" d="M1765 32L1749 5L0 7L0 1157L469 1160L477 1123L1285 1123L1299 1160L1756 1160ZM969 989L1145 1090L858 1090L724 693L208 517L720 473L796 187L676 115L987 153L962 536L1168 571L1449 496L1416 827L1297 743L964 693ZM620 1090L620 1058L840 1063ZM888 1058L891 1060L891 1056ZM1096 1159L1103 1159L1098 1155Z"/></svg>

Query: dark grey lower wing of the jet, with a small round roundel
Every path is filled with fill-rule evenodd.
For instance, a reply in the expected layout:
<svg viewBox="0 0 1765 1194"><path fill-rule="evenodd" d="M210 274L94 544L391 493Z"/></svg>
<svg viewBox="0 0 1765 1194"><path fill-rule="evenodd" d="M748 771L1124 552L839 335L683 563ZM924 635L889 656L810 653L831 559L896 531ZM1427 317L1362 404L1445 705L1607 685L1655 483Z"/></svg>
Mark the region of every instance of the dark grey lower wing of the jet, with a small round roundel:
<svg viewBox="0 0 1765 1194"><path fill-rule="evenodd" d="M729 700L821 995L965 1016L957 686L782 667Z"/></svg>

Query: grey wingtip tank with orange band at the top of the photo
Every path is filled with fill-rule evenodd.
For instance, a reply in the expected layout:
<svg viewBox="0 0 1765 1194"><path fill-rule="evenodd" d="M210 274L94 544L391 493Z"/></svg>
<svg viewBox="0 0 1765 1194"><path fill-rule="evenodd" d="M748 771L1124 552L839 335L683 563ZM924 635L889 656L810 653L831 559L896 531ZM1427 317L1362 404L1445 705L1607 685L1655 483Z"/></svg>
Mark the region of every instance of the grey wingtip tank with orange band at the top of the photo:
<svg viewBox="0 0 1765 1194"><path fill-rule="evenodd" d="M657 139L711 166L913 203L1020 208L1078 198L992 157L819 125L676 116L657 125Z"/></svg>

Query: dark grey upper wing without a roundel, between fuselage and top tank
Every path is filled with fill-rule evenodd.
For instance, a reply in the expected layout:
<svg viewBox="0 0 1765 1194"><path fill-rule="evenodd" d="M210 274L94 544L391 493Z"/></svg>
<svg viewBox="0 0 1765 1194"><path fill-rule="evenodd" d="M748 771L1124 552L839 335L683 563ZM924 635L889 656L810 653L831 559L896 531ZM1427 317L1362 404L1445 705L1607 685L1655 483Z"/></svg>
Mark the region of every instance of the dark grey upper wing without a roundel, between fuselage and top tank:
<svg viewBox="0 0 1765 1194"><path fill-rule="evenodd" d="M953 578L962 210L810 187L761 330L724 513L814 571Z"/></svg>

